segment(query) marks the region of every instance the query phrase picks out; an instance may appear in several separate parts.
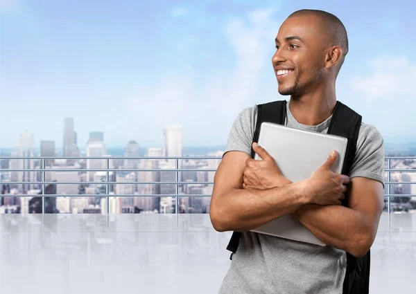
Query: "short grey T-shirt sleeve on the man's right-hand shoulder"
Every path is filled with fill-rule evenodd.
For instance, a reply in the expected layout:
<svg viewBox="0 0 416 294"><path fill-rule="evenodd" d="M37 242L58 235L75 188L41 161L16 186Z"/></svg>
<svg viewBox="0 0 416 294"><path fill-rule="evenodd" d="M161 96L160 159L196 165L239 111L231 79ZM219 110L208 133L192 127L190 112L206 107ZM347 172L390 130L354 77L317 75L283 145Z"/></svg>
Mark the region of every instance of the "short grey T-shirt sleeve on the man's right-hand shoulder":
<svg viewBox="0 0 416 294"><path fill-rule="evenodd" d="M363 123L358 133L357 150L349 178L371 178L384 186L384 160L383 137L374 126Z"/></svg>

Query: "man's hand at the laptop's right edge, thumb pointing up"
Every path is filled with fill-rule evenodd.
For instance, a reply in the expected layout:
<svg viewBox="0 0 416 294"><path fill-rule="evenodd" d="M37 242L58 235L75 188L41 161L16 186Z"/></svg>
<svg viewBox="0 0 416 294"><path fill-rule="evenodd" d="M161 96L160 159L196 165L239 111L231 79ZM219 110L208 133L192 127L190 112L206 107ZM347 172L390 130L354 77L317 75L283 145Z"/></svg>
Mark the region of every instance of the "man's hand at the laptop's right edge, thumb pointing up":
<svg viewBox="0 0 416 294"><path fill-rule="evenodd" d="M311 203L340 205L345 198L349 177L331 171L337 156L338 153L333 151L327 161L306 180L307 193L311 196Z"/></svg>

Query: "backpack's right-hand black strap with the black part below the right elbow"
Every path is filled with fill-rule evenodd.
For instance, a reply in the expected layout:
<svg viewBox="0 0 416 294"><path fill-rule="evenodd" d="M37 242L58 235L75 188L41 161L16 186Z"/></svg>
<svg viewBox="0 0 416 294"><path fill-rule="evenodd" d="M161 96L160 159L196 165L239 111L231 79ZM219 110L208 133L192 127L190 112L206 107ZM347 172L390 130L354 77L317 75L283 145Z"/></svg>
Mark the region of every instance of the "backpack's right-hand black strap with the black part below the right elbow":
<svg viewBox="0 0 416 294"><path fill-rule="evenodd" d="M358 132L362 117L341 102L336 103L328 134L347 138L343 172L348 175L354 162ZM344 199L343 205L347 205ZM368 294L370 286L370 250L363 257L354 257L347 252L347 270L343 284L343 294Z"/></svg>

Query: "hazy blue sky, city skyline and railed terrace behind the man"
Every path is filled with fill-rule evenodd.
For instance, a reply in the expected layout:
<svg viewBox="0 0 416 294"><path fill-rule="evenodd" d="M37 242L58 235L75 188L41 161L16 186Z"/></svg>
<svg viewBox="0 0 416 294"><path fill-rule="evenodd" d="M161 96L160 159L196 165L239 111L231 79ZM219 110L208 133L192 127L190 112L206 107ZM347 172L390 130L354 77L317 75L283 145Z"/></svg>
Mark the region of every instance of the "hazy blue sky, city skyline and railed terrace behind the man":
<svg viewBox="0 0 416 294"><path fill-rule="evenodd" d="M215 232L209 223L214 174L239 112L288 99L277 92L271 57L279 26L302 8L326 10L343 21L349 53L338 75L337 98L385 140L385 208L378 236L388 252L393 236L405 247L394 250L399 257L382 254L387 259L376 262L399 258L400 270L416 264L413 1L0 3L2 294L29 293L15 287L18 268L27 269L21 277L30 281L28 289L51 283L37 288L42 293L115 293L105 277L114 291L123 285L118 293L130 293L126 281L135 279L137 267L115 279L120 255L98 266L103 272L92 276L91 284L79 274L84 273L79 263L97 266L92 259L102 262L110 255L100 250L114 244L153 248L139 250L140 257L132 249L119 264L146 268L141 290L132 286L131 293L216 293L229 266L229 234ZM72 246L81 244L78 266L63 261L72 256L71 246L64 246L69 235ZM28 251L16 251L16 244ZM205 249L193 252L201 246ZM62 275L51 250L68 266ZM33 276L37 258L55 279ZM165 261L172 267L161 267ZM198 261L209 275L190 270ZM178 263L186 273L174 270ZM167 271L156 275L149 268ZM379 267L377 277L385 284L373 284L373 293L410 293L403 282L408 272L400 270L392 281ZM80 281L86 288L69 286ZM390 290L395 292L383 292Z"/></svg>

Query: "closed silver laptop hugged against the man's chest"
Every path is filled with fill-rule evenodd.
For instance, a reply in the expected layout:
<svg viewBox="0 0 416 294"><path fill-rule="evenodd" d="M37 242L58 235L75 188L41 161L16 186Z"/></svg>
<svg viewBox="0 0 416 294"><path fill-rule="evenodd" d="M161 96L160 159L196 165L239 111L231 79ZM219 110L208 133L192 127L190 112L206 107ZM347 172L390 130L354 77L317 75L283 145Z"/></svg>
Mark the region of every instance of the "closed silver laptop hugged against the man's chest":
<svg viewBox="0 0 416 294"><path fill-rule="evenodd" d="M281 173L293 182L309 178L328 159L332 149L338 151L338 158L331 170L340 174L347 148L347 138L270 122L261 124L258 143L275 158ZM257 154L254 159L261 160ZM320 246L326 245L300 221L287 214L252 231Z"/></svg>

